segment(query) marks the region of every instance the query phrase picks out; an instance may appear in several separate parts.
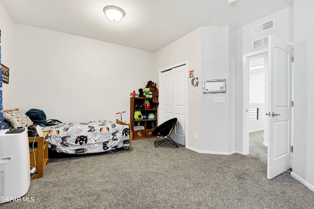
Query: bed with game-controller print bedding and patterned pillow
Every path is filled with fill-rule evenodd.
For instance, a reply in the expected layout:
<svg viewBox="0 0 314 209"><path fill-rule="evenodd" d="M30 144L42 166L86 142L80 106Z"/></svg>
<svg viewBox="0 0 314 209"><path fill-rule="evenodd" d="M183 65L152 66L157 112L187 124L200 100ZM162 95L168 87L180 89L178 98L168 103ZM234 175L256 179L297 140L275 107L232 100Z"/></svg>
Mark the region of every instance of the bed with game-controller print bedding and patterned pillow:
<svg viewBox="0 0 314 209"><path fill-rule="evenodd" d="M3 111L3 116L13 128L19 124L13 124L14 120L19 121L22 127L33 125L31 120L19 109ZM12 118L8 118L8 115ZM26 116L26 117L25 117ZM43 128L48 132L49 148L57 153L66 154L87 154L115 151L120 148L131 150L132 132L130 124L120 120L111 122L108 120L92 122L60 123Z"/></svg>

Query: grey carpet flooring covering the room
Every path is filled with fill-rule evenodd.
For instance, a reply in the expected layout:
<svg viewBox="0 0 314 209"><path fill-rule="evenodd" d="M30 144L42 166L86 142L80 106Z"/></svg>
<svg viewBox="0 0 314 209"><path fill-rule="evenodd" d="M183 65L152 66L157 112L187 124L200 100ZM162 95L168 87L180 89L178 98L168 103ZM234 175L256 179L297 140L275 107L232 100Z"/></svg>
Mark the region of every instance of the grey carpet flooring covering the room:
<svg viewBox="0 0 314 209"><path fill-rule="evenodd" d="M44 177L31 180L30 202L2 209L313 209L314 192L285 172L266 178L262 131L250 134L250 154L200 154L155 139L132 150L50 156Z"/></svg>

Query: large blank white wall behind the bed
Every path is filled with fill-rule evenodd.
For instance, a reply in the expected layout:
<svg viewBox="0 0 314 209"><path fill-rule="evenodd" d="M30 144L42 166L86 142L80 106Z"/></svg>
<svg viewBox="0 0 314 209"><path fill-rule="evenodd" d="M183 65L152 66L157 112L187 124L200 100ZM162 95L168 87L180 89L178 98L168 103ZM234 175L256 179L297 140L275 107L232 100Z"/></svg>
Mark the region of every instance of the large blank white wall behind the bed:
<svg viewBox="0 0 314 209"><path fill-rule="evenodd" d="M23 24L15 24L14 53L17 96L8 108L63 122L115 121L121 111L130 121L130 93L153 77L152 52Z"/></svg>

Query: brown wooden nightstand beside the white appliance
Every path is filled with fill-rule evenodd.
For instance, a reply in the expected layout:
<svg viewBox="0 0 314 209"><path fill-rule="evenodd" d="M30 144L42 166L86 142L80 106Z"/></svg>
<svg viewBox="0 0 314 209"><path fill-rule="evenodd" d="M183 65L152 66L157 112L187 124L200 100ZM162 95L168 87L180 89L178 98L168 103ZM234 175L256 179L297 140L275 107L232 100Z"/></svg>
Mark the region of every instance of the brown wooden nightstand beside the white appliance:
<svg viewBox="0 0 314 209"><path fill-rule="evenodd" d="M43 137L28 137L30 165L36 167L32 179L41 178L44 175L45 166L48 164L48 132L43 132ZM34 149L33 149L34 145ZM36 166L35 166L36 161Z"/></svg>

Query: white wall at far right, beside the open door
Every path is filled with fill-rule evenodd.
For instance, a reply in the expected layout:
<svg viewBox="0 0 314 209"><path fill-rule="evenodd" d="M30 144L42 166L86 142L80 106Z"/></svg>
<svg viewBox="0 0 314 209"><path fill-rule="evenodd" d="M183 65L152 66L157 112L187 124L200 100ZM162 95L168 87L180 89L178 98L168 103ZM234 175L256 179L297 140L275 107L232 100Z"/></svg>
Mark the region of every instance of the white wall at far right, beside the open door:
<svg viewBox="0 0 314 209"><path fill-rule="evenodd" d="M291 175L314 191L314 1L294 1L294 138Z"/></svg>

